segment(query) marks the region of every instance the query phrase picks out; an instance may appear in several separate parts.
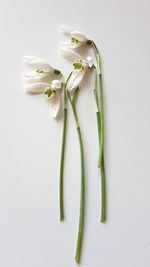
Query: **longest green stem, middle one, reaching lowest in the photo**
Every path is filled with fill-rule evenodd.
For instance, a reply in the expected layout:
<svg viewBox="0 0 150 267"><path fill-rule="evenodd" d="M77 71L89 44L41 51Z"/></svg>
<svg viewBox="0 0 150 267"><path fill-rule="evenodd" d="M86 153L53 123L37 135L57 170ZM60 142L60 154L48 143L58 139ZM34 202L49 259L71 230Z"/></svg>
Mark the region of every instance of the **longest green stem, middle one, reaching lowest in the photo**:
<svg viewBox="0 0 150 267"><path fill-rule="evenodd" d="M82 239L83 239L83 225L84 225L84 153L83 153L83 144L82 144L82 136L81 130L78 122L77 112L73 101L71 100L70 94L68 92L68 98L72 107L78 138L79 138L79 146L80 146L80 160L81 160L81 191L80 191L80 214L79 214L79 226L78 226L78 238L75 252L75 260L77 263L80 262L81 257L81 247L82 247Z"/></svg>

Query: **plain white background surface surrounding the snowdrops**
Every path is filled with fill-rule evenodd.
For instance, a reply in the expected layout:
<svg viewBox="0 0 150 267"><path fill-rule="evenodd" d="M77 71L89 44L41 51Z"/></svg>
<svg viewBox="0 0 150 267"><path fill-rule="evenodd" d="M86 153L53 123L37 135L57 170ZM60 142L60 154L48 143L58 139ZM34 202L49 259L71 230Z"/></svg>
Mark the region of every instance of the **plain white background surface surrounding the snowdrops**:
<svg viewBox="0 0 150 267"><path fill-rule="evenodd" d="M80 161L69 110L65 221L59 222L62 118L42 95L23 90L23 56L46 59L67 76L58 55L65 24L101 50L105 105L107 222L101 224L93 77L77 101L86 170L81 266L150 266L149 0L0 1L0 265L73 267ZM89 51L90 53L90 51Z"/></svg>

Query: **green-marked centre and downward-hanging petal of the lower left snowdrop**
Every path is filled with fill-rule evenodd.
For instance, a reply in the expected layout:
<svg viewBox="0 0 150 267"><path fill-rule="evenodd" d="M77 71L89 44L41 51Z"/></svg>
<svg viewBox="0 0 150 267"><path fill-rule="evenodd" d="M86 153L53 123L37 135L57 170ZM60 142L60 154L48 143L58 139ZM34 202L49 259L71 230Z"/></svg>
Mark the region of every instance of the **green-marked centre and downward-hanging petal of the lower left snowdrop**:
<svg viewBox="0 0 150 267"><path fill-rule="evenodd" d="M57 117L60 110L60 89L62 82L60 80L53 80L44 90L44 95L51 100L51 111L54 118Z"/></svg>

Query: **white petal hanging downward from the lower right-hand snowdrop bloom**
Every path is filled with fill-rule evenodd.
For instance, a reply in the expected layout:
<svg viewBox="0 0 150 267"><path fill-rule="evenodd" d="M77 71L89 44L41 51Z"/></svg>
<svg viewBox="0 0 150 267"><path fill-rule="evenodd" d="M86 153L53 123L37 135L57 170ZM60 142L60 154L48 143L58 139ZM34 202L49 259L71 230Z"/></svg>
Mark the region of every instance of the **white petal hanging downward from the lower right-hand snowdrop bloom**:
<svg viewBox="0 0 150 267"><path fill-rule="evenodd" d="M76 89L79 84L81 83L83 77L85 74L85 69L83 70L74 70L69 81L67 84L67 89L69 91L73 91L74 89Z"/></svg>

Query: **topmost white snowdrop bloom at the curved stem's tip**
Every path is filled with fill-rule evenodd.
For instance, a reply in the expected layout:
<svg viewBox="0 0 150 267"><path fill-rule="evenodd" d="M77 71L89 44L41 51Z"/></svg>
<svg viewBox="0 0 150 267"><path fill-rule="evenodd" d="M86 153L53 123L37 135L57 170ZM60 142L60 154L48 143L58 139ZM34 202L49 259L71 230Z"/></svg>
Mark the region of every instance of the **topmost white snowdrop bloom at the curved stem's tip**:
<svg viewBox="0 0 150 267"><path fill-rule="evenodd" d="M70 27L62 25L60 26L60 31L70 38L69 41L63 43L65 48L75 49L77 47L86 45L89 41L84 34L79 31L74 31Z"/></svg>

